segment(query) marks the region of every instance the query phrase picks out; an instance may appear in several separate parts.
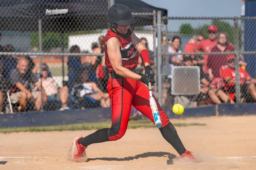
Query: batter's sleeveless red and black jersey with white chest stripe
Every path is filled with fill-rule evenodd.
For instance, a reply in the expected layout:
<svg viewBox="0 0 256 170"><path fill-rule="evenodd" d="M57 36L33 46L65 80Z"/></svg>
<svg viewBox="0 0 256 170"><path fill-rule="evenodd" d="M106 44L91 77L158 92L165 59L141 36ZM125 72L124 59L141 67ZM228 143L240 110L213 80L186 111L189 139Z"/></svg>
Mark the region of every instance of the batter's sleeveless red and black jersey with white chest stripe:
<svg viewBox="0 0 256 170"><path fill-rule="evenodd" d="M137 67L139 55L137 50L133 47L131 37L124 38L121 35L117 35L111 30L108 30L106 36L105 36L105 63L108 66L109 73L115 72L109 62L108 58L108 49L107 49L107 41L111 37L116 37L120 42L120 52L122 55L122 64L123 67L132 70Z"/></svg>

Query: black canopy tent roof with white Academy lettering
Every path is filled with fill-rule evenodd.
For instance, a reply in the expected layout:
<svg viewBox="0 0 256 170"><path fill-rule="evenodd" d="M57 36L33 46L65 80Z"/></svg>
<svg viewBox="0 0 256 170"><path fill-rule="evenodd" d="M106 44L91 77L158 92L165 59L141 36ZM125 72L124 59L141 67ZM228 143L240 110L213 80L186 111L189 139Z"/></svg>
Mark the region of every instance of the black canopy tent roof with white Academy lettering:
<svg viewBox="0 0 256 170"><path fill-rule="evenodd" d="M115 0L132 12L167 10L156 8L140 0ZM43 32L71 32L108 28L106 14L108 0L0 0L0 30L38 31L42 20ZM136 25L152 25L152 16L134 16Z"/></svg>

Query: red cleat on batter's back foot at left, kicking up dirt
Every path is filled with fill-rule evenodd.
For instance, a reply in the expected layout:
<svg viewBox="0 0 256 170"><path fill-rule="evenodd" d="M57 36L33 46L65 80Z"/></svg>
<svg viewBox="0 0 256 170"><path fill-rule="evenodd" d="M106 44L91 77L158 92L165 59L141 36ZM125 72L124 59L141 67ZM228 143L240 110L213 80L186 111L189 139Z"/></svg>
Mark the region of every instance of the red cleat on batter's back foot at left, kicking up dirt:
<svg viewBox="0 0 256 170"><path fill-rule="evenodd" d="M72 152L72 159L75 162L87 162L87 157L85 154L86 146L82 144L78 144L78 141L83 137L76 137L73 141L73 152Z"/></svg>

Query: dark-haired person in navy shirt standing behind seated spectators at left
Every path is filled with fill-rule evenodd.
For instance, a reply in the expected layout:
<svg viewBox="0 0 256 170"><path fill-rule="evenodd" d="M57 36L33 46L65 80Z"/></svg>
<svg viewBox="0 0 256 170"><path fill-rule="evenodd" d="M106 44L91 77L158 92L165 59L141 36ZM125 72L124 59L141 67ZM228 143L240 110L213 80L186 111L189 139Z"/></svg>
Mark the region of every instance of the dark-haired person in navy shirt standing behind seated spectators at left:
<svg viewBox="0 0 256 170"><path fill-rule="evenodd" d="M80 53L80 48L77 45L69 49L70 53ZM78 83L79 70L82 68L81 56L74 55L68 57L68 89L71 91L72 86Z"/></svg>

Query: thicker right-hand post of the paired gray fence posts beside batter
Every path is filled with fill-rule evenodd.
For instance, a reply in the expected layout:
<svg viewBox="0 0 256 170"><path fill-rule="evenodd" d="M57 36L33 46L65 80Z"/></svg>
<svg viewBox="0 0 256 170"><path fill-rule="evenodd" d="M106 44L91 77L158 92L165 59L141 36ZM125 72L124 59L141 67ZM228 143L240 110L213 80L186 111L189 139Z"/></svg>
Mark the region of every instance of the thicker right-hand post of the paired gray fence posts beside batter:
<svg viewBox="0 0 256 170"><path fill-rule="evenodd" d="M162 105L162 12L156 12L156 25L157 25L157 86L158 86L158 102Z"/></svg>

